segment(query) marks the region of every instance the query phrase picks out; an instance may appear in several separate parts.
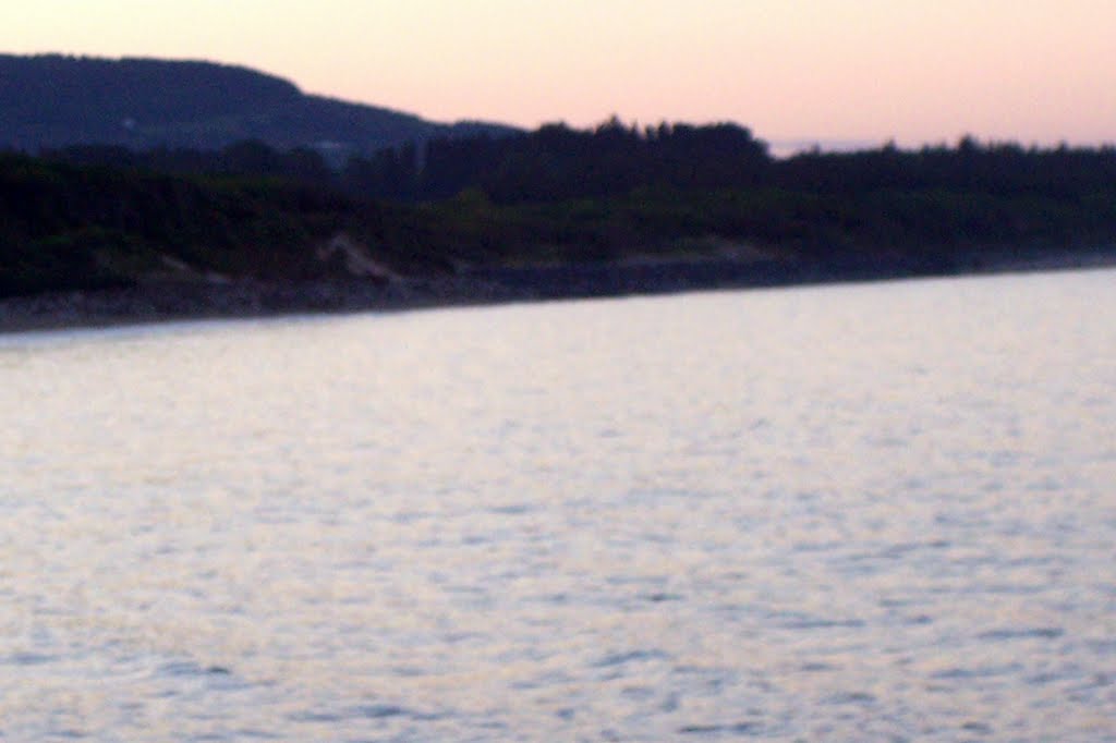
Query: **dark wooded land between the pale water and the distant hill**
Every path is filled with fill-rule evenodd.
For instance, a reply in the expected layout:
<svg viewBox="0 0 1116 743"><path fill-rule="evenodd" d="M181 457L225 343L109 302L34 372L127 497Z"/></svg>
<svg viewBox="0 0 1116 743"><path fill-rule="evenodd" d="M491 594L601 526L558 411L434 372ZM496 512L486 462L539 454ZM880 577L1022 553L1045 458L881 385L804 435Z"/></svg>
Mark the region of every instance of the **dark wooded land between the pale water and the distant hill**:
<svg viewBox="0 0 1116 743"><path fill-rule="evenodd" d="M0 154L8 329L1114 262L1112 147L776 160L732 124L610 120L344 162L261 141Z"/></svg>

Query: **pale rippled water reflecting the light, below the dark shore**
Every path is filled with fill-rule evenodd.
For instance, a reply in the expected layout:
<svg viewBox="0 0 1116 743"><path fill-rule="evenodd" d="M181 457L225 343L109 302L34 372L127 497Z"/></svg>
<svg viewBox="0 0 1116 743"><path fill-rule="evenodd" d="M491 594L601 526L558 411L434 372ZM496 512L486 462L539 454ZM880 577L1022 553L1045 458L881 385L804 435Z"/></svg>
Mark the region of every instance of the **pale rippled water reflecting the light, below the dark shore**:
<svg viewBox="0 0 1116 743"><path fill-rule="evenodd" d="M0 739L1116 741L1114 286L0 338Z"/></svg>

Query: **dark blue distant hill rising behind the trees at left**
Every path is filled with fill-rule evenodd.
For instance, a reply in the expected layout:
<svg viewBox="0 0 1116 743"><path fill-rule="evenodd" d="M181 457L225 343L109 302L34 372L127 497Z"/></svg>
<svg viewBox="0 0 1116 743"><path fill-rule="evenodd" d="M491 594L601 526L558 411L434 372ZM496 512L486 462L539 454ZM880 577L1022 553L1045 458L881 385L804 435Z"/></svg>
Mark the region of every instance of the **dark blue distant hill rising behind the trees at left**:
<svg viewBox="0 0 1116 743"><path fill-rule="evenodd" d="M280 77L206 61L0 55L0 148L78 144L220 149L259 139L344 157L511 127L439 124L304 94Z"/></svg>

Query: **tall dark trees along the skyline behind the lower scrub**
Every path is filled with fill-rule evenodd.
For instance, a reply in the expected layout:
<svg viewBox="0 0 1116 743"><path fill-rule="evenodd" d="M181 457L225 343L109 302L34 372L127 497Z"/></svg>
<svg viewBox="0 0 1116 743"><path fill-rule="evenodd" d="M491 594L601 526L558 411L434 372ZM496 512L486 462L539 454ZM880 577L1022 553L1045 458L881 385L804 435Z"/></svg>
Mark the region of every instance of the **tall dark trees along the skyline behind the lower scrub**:
<svg viewBox="0 0 1116 743"><path fill-rule="evenodd" d="M564 124L493 137L437 137L330 162L318 149L242 142L220 151L75 146L45 156L75 164L176 174L283 177L357 199L437 201L465 190L496 203L600 199L636 190L740 190L852 194L882 190L975 192L1074 199L1116 183L1116 148L1024 148L980 143L852 153L807 152L776 160L733 124L637 128L612 119L593 129Z"/></svg>

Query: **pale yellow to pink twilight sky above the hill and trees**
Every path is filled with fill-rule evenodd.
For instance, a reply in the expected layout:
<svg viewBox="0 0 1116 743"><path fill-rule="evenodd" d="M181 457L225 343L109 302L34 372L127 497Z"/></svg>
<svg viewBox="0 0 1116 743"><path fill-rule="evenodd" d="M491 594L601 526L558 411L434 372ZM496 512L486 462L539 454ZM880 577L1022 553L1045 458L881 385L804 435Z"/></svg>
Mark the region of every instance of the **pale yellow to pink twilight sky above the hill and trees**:
<svg viewBox="0 0 1116 743"><path fill-rule="evenodd" d="M0 51L240 64L436 120L1116 142L1116 0L32 0Z"/></svg>

